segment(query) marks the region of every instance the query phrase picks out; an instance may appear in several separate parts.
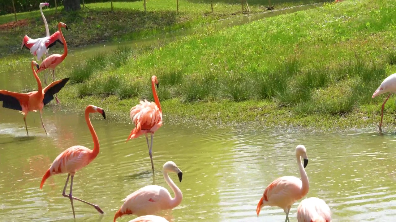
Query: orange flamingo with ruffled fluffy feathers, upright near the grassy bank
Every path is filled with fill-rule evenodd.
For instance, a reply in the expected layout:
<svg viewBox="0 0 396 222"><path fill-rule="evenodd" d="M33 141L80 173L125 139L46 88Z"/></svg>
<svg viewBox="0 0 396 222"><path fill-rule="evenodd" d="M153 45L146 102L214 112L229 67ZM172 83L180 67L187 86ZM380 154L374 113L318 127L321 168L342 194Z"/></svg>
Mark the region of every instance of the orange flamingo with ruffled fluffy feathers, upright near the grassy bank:
<svg viewBox="0 0 396 222"><path fill-rule="evenodd" d="M157 91L154 87L154 84L158 88L158 79L155 75L151 77L151 89L152 94L154 96L153 102L148 102L147 100L140 101L140 104L135 105L131 108L130 117L133 123L135 124L135 128L129 134L129 139L137 138L142 134L146 135L147 146L148 146L148 154L150 155L152 172L154 173L154 163L152 162L152 139L154 137L154 132L156 132L162 126L162 109L160 105L160 100L158 99ZM148 145L148 137L147 134L151 135L151 146Z"/></svg>

